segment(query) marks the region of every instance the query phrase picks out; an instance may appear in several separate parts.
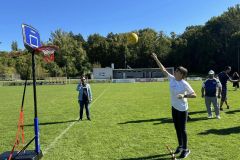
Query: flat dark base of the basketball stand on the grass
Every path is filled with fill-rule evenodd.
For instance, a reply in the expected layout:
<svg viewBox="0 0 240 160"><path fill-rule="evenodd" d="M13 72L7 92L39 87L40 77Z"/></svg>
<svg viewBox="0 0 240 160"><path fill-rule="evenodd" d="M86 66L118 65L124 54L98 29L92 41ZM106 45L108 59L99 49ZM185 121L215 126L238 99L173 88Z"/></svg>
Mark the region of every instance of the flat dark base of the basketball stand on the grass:
<svg viewBox="0 0 240 160"><path fill-rule="evenodd" d="M0 160L8 160L11 151L0 154ZM13 157L17 155L17 151L13 152ZM42 151L37 154L34 150L25 150L21 152L14 160L39 160L43 156Z"/></svg>

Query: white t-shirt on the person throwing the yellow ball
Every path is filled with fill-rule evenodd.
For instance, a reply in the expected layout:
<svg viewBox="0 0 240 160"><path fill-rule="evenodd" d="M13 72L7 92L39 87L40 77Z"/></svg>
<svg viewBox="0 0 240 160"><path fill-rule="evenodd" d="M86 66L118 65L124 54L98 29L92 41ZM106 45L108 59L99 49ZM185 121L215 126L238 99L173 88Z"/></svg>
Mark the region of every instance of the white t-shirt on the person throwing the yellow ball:
<svg viewBox="0 0 240 160"><path fill-rule="evenodd" d="M187 98L178 99L177 95L192 94L194 93L194 90L184 79L177 81L171 74L168 74L168 79L170 82L171 105L179 111L188 110Z"/></svg>

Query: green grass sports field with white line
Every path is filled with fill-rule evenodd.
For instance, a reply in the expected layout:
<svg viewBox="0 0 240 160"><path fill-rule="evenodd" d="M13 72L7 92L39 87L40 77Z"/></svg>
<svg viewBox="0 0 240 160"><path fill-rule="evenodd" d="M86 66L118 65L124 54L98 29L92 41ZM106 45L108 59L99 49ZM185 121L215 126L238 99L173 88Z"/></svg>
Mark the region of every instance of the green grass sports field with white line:
<svg viewBox="0 0 240 160"><path fill-rule="evenodd" d="M230 110L208 120L201 82L190 82L198 97L189 99L187 124L192 160L240 159L240 91L229 84ZM168 82L92 84L92 121L78 119L76 85L37 86L41 150L44 160L170 159L165 144L177 146ZM12 148L22 87L0 87L0 153ZM28 86L25 138L33 136L33 96ZM85 113L84 113L85 116ZM32 144L28 149L34 149Z"/></svg>

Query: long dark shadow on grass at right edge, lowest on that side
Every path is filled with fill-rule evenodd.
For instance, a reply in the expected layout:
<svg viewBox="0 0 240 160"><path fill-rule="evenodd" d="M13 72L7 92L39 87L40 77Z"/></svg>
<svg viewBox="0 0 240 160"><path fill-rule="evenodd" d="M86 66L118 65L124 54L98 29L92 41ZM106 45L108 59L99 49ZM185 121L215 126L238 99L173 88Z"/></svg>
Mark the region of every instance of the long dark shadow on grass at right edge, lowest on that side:
<svg viewBox="0 0 240 160"><path fill-rule="evenodd" d="M199 135L208 135L208 134L216 134L216 135L229 135L229 134L239 134L240 126L232 127L232 128L224 128L224 129L209 129L205 132L198 133Z"/></svg>

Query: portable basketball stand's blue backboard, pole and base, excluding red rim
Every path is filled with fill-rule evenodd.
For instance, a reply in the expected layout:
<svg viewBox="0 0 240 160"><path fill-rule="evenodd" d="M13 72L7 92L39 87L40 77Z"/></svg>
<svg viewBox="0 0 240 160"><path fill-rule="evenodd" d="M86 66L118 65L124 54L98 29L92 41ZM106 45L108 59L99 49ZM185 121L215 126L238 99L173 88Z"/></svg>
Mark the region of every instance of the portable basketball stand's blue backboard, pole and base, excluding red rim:
<svg viewBox="0 0 240 160"><path fill-rule="evenodd" d="M23 43L25 48L32 54L32 77L33 77L33 100L34 100L34 137L31 141L25 145L22 150L14 151L14 147L11 151L6 151L0 154L0 160L39 160L43 154L40 150L39 140L39 125L37 117L37 92L36 92L36 76L35 76L35 53L36 48L41 47L39 32L30 25L22 24ZM35 140L35 150L26 150L27 147Z"/></svg>

